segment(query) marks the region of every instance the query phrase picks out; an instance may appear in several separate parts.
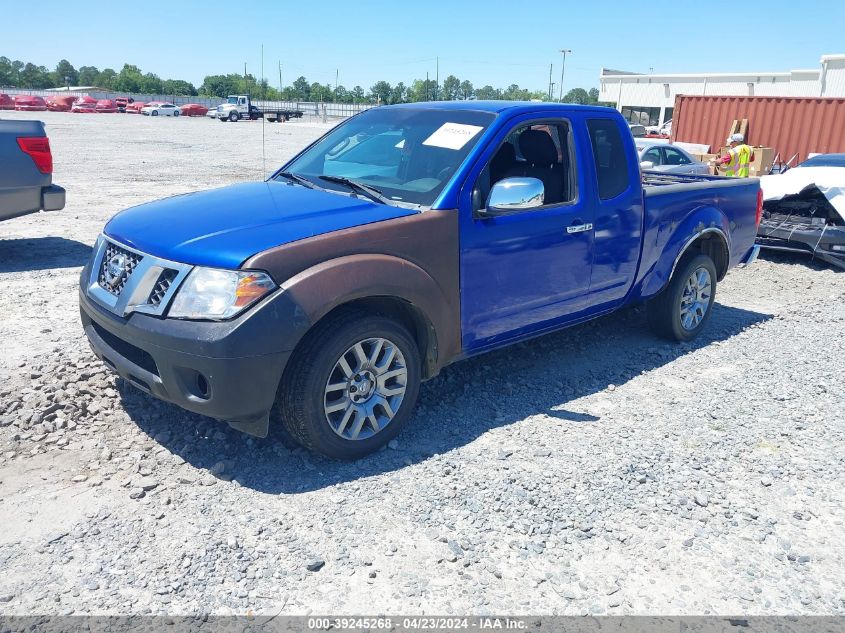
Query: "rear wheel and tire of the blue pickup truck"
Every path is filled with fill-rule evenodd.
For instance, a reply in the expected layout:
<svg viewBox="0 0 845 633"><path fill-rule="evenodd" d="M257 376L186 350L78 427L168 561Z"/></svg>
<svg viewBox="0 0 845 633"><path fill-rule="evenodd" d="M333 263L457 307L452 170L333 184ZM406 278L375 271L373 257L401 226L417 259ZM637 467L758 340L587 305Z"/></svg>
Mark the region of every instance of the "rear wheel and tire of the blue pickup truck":
<svg viewBox="0 0 845 633"><path fill-rule="evenodd" d="M715 298L713 260L702 254L684 256L669 285L648 302L649 325L663 338L691 341L710 320Z"/></svg>

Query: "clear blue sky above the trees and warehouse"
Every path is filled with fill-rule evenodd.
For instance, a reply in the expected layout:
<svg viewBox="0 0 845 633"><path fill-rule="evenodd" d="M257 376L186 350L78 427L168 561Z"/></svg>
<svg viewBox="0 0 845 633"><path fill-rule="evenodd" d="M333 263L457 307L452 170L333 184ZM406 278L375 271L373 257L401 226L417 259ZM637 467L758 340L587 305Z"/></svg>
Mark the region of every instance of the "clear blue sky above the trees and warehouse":
<svg viewBox="0 0 845 633"><path fill-rule="evenodd" d="M449 74L476 86L598 86L602 66L638 72L817 68L845 53L842 0L615 3L498 0L38 0L2 2L0 55L52 69L132 63L199 85L207 74L299 75L347 88ZM232 7L237 7L233 9ZM253 7L253 8L247 8ZM827 16L822 19L817 16ZM732 22L733 21L733 22ZM747 46L742 48L741 43Z"/></svg>

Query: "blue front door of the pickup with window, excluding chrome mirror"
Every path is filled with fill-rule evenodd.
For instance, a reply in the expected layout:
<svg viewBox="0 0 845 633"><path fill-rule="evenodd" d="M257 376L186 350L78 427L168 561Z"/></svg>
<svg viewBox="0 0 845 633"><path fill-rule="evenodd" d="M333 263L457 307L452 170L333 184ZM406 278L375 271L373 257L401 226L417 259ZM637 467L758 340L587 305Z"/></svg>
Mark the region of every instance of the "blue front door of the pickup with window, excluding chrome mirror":
<svg viewBox="0 0 845 633"><path fill-rule="evenodd" d="M588 145L573 119L521 117L491 141L461 193L461 327L466 353L574 318L593 258L593 204L578 165ZM477 174L474 176L473 174ZM492 185L543 181L540 207L485 217Z"/></svg>

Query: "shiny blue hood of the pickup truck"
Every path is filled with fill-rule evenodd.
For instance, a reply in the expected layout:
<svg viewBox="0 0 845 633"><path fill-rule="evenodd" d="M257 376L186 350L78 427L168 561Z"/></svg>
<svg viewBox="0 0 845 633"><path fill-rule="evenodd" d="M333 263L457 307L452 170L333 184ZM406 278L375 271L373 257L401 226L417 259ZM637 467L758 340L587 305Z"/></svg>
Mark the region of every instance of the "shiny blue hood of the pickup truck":
<svg viewBox="0 0 845 633"><path fill-rule="evenodd" d="M234 269L275 246L415 213L341 193L253 182L126 209L103 232L171 261Z"/></svg>

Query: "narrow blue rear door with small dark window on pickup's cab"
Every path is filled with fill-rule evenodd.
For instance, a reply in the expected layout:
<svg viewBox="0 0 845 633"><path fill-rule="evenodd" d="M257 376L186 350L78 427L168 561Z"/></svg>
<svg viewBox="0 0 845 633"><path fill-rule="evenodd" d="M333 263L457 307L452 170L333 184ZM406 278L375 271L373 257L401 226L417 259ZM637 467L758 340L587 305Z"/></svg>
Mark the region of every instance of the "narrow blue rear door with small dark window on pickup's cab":
<svg viewBox="0 0 845 633"><path fill-rule="evenodd" d="M643 197L637 153L617 117L587 120L595 196L595 257L590 312L622 302L637 273L643 232ZM627 134L626 134L627 136Z"/></svg>

